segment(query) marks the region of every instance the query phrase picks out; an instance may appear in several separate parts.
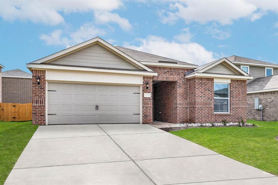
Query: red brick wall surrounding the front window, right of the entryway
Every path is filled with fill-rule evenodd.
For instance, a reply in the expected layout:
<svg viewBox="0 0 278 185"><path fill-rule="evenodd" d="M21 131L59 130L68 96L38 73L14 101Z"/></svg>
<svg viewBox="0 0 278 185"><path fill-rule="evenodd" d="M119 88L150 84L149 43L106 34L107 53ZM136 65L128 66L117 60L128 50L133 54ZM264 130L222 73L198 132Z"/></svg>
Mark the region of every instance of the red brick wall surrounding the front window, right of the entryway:
<svg viewBox="0 0 278 185"><path fill-rule="evenodd" d="M189 122L212 123L227 119L237 122L237 118L247 119L246 80L231 80L230 113L214 113L214 79L194 77L189 79Z"/></svg>

